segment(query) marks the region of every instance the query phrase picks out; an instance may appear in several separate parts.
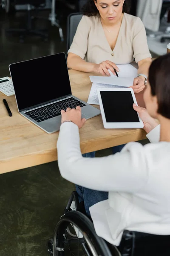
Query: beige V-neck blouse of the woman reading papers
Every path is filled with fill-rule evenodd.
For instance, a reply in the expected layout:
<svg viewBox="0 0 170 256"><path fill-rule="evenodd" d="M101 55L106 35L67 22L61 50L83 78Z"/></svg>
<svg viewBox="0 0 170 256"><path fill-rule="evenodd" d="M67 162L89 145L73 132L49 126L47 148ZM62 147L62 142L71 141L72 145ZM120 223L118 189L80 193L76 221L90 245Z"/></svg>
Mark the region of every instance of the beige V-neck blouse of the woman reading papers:
<svg viewBox="0 0 170 256"><path fill-rule="evenodd" d="M72 52L88 62L99 64L113 61L127 64L151 58L144 24L139 17L124 13L116 45L112 51L99 16L83 16L68 53Z"/></svg>

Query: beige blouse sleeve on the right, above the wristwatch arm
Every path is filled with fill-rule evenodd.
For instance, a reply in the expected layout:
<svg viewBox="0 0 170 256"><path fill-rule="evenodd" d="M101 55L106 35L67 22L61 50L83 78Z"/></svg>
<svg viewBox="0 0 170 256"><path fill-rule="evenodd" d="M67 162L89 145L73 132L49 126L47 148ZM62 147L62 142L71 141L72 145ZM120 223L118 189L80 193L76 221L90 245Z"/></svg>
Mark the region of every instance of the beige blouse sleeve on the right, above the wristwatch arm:
<svg viewBox="0 0 170 256"><path fill-rule="evenodd" d="M133 52L133 58L135 58L136 63L145 58L152 58L147 45L146 30L139 17L136 19L133 33Z"/></svg>

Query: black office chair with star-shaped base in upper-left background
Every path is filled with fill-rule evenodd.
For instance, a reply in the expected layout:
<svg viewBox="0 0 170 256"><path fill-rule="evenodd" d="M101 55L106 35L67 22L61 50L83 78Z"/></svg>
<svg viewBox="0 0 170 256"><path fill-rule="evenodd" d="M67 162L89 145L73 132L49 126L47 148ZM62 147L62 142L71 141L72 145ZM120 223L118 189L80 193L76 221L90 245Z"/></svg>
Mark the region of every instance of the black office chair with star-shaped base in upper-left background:
<svg viewBox="0 0 170 256"><path fill-rule="evenodd" d="M20 42L23 43L26 35L38 35L44 39L44 41L48 40L48 34L44 32L44 29L33 29L32 28L32 18L31 17L31 6L34 6L37 10L39 7L45 7L45 0L14 0L14 5L17 4L26 4L27 5L27 23L26 27L23 29L6 29L6 33L8 34L19 34Z"/></svg>

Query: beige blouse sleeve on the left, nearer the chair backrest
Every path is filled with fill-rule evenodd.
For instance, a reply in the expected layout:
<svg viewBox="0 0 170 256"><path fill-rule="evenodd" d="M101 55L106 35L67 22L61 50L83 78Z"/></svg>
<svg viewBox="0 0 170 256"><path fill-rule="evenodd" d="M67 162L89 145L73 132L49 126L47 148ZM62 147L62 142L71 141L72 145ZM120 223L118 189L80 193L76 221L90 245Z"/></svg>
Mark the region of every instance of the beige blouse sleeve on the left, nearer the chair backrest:
<svg viewBox="0 0 170 256"><path fill-rule="evenodd" d="M83 15L77 27L69 52L78 55L84 59L88 49L88 35L91 29L91 20L89 17Z"/></svg>

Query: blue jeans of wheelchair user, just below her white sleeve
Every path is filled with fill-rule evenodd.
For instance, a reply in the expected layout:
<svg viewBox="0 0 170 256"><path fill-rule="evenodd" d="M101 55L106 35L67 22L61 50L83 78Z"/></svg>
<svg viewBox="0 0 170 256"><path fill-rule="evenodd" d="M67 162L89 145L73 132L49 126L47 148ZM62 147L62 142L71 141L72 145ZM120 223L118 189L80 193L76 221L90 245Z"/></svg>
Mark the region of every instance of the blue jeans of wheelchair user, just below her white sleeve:
<svg viewBox="0 0 170 256"><path fill-rule="evenodd" d="M89 207L108 199L108 192L86 189L78 185L76 185L76 191L79 196L79 202L84 201L85 211L88 216L90 216Z"/></svg>

